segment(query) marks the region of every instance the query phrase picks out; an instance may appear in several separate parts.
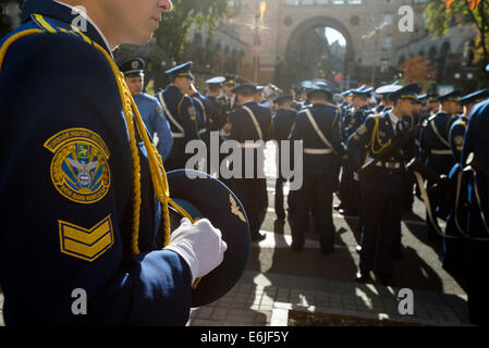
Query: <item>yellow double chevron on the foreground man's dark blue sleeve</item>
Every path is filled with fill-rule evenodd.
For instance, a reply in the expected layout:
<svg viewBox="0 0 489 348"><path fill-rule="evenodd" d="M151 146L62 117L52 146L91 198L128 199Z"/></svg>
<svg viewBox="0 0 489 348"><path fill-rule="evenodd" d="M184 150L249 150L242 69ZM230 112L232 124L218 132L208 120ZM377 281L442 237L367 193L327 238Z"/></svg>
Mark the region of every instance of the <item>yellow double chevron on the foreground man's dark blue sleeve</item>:
<svg viewBox="0 0 489 348"><path fill-rule="evenodd" d="M93 262L112 247L113 228L110 214L91 228L58 220L61 252Z"/></svg>

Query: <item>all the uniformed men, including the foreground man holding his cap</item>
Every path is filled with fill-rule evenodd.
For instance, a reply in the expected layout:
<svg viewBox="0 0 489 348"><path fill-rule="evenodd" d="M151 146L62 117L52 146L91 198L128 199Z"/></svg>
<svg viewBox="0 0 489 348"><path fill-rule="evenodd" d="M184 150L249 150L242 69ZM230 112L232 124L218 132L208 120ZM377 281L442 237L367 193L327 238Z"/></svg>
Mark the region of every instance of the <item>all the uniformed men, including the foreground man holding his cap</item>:
<svg viewBox="0 0 489 348"><path fill-rule="evenodd" d="M80 4L84 32L72 25ZM278 167L301 167L276 182L293 251L304 252L313 220L321 253L334 252L338 209L360 225L355 279L395 285L401 219L416 195L443 266L467 281L472 322L488 323L489 89L337 91L315 79L289 94L239 76L197 86L186 62L149 96L144 60L115 62L112 51L149 42L172 3L115 8L25 0L22 24L0 39L7 325L184 325L191 307L236 284L250 241L265 238L270 140L281 145ZM206 149L197 161L196 148Z"/></svg>

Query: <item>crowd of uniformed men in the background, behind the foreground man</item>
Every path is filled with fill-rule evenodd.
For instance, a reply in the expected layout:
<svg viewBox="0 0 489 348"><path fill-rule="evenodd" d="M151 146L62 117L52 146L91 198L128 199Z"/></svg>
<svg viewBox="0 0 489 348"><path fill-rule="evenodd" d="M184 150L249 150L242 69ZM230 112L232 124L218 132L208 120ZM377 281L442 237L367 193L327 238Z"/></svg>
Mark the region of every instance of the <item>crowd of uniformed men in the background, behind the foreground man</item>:
<svg viewBox="0 0 489 348"><path fill-rule="evenodd" d="M285 214L283 187L290 177L278 170L274 200L277 219L288 216L294 251L303 251L310 219L321 252L334 251L335 194L341 204L334 209L358 216L360 225L355 278L370 282L375 274L381 284L394 285L402 215L412 213L418 196L426 204L427 240L442 243L444 269L466 279L470 320L488 323L489 88L438 96L423 94L418 84L392 84L335 94L334 86L317 79L302 82L289 95L271 84L218 76L205 82L204 95L187 62L167 71L170 84L151 97L143 92L142 59L120 67L167 171L185 167L191 140L201 139L210 158L211 132L219 132L220 144L241 144L243 175L222 181L246 210L252 240L265 238L259 228L268 208L266 178L258 173L264 148L257 140L299 140L303 185L290 191ZM245 175L246 151L254 158L252 177ZM445 228L439 219L447 221Z"/></svg>

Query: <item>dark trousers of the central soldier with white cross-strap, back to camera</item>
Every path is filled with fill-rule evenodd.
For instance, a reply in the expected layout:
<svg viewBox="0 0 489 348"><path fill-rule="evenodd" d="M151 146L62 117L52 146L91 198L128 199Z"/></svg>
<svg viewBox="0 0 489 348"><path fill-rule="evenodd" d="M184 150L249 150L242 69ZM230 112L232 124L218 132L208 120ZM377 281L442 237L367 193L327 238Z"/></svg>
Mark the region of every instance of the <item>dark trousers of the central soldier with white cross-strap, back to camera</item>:
<svg viewBox="0 0 489 348"><path fill-rule="evenodd" d="M292 247L304 247L304 231L309 219L309 204L313 210L316 232L320 234L321 251L329 253L334 249L334 225L332 199L334 183L328 174L306 174L303 187L289 192L289 223L292 233Z"/></svg>

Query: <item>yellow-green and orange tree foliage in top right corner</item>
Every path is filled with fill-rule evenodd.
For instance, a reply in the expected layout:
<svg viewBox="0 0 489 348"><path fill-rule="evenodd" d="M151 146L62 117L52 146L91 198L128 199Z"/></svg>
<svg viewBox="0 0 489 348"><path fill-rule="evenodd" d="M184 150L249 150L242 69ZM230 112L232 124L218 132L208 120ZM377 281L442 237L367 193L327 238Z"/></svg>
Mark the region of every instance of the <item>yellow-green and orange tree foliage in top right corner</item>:
<svg viewBox="0 0 489 348"><path fill-rule="evenodd" d="M473 23L479 32L473 63L486 67L489 63L489 0L428 0L424 14L427 28L435 35L448 34L456 24Z"/></svg>

